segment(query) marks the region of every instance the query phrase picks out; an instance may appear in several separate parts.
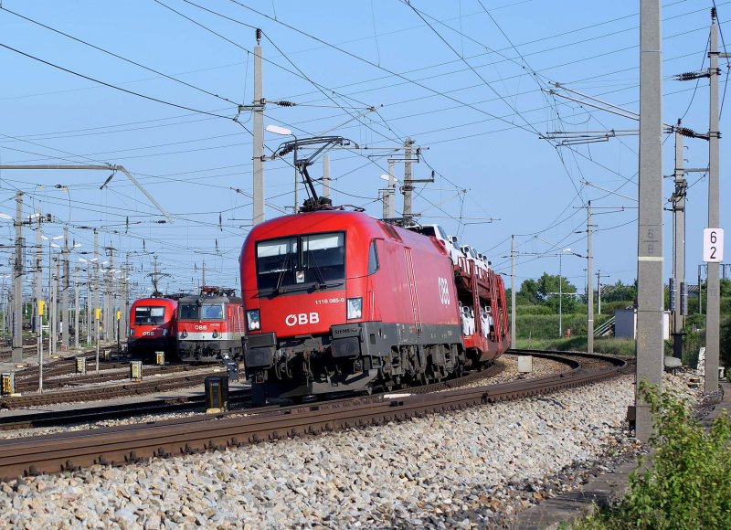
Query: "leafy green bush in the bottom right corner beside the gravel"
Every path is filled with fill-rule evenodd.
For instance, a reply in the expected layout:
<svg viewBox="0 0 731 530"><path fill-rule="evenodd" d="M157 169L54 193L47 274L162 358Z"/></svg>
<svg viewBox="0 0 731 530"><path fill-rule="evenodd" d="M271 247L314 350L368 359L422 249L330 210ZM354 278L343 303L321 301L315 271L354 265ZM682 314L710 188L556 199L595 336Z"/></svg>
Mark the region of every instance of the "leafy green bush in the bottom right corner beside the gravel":
<svg viewBox="0 0 731 530"><path fill-rule="evenodd" d="M630 473L628 493L578 528L731 528L731 419L722 414L710 429L682 401L640 385L657 419L647 471Z"/></svg>

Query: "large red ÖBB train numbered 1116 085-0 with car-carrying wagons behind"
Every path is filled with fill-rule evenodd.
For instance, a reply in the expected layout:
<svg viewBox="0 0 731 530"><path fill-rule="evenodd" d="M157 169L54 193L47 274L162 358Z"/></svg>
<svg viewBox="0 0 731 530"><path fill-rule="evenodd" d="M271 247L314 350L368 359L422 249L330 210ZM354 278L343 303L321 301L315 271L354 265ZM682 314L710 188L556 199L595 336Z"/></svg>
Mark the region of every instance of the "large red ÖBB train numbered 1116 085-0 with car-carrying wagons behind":
<svg viewBox="0 0 731 530"><path fill-rule="evenodd" d="M272 219L239 262L257 401L439 380L509 345L499 275L363 213Z"/></svg>

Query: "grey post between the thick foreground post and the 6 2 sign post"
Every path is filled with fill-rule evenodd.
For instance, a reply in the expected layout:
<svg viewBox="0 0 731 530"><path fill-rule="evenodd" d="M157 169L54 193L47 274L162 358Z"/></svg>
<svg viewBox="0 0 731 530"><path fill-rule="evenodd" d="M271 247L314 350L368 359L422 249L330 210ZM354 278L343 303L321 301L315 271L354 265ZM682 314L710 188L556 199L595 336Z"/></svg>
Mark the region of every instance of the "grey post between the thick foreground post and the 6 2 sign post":
<svg viewBox="0 0 731 530"><path fill-rule="evenodd" d="M678 126L680 126L680 121L678 121ZM670 295L676 297L675 311L673 312L673 357L681 359L683 358L685 318L681 311L677 290L680 289L681 283L685 281L685 190L688 186L683 169L683 135L680 133L679 128L675 130L675 172L673 174L675 180L675 191L673 193L673 281L675 292L671 292ZM672 302L671 305L673 305Z"/></svg>

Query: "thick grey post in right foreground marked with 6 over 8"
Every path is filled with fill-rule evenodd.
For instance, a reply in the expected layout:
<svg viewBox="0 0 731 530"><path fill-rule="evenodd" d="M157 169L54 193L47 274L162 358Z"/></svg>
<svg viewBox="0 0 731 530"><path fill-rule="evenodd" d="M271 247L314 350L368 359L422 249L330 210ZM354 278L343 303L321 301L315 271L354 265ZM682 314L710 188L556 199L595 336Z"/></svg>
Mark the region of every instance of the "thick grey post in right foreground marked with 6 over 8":
<svg viewBox="0 0 731 530"><path fill-rule="evenodd" d="M640 186L637 252L637 386L662 387L662 39L660 0L640 7ZM635 394L639 440L652 436L648 404Z"/></svg>

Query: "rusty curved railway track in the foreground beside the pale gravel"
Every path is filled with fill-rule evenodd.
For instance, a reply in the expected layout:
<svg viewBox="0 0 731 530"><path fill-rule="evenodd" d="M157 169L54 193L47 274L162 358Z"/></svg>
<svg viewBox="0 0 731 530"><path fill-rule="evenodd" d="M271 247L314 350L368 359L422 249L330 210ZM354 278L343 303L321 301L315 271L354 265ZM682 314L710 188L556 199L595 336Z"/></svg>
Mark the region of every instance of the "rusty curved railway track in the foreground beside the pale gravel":
<svg viewBox="0 0 731 530"><path fill-rule="evenodd" d="M440 392L405 390L398 394L254 409L247 414L238 411L5 440L0 442L0 479L75 470L93 464L120 464L154 456L221 450L260 440L381 424L588 385L618 376L627 366L622 359L603 355L524 350L513 353L557 360L566 363L569 369L553 376L499 385L445 390L446 383L440 383L439 388L430 387L440 389ZM582 361L587 367L582 367ZM449 383L458 384L461 384L459 380Z"/></svg>

